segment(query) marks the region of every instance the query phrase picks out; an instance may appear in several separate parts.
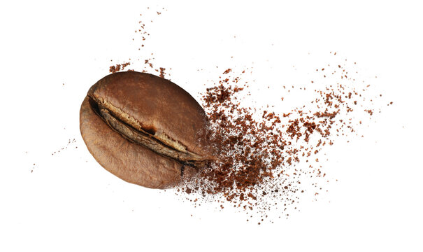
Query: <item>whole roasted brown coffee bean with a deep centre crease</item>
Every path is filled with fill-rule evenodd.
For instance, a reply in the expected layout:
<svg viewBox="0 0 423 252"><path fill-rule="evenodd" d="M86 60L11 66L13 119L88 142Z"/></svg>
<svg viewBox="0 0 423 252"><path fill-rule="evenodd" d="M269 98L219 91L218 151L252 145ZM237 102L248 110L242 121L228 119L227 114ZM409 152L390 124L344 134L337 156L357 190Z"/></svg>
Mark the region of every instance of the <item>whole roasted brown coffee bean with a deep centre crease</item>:
<svg viewBox="0 0 423 252"><path fill-rule="evenodd" d="M89 152L120 179L169 188L213 158L208 118L178 85L149 73L110 74L88 91L80 132Z"/></svg>

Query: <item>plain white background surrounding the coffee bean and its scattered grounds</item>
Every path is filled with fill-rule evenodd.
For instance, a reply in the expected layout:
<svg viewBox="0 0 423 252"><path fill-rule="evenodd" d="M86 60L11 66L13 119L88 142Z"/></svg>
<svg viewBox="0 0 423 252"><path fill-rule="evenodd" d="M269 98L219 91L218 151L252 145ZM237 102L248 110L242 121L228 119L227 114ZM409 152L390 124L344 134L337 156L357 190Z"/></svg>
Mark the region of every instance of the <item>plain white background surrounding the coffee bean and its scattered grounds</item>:
<svg viewBox="0 0 423 252"><path fill-rule="evenodd" d="M1 3L0 251L423 251L419 1L200 2ZM150 36L138 51L140 13ZM327 150L338 182L288 219L257 225L124 183L80 137L80 103L110 59L154 52L199 99L228 67L254 66L252 78L276 88L330 51L378 76L370 81L394 106L363 139Z"/></svg>

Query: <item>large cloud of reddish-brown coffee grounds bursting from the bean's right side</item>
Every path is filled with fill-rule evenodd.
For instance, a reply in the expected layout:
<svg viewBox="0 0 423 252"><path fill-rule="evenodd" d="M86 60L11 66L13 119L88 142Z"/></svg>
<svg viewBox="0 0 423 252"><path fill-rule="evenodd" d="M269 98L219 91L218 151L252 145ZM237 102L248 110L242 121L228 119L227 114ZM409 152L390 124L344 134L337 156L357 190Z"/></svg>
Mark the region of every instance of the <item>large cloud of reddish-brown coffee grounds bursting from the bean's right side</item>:
<svg viewBox="0 0 423 252"><path fill-rule="evenodd" d="M324 183L330 180L322 162L327 158L321 152L340 139L364 137L357 129L373 116L378 106L374 100L379 98L371 97L370 85L358 80L356 63L351 66L339 60L315 69L306 85L283 86L281 102L294 89L313 95L290 111L243 106L258 84L243 81L245 70L223 71L201 95L211 123L210 141L220 146L215 153L219 158L178 188L177 195L195 207L215 202L221 203L221 209L241 209L248 220L258 219L260 224L270 213L289 216L289 207L296 209L305 192L316 200L327 192Z"/></svg>

